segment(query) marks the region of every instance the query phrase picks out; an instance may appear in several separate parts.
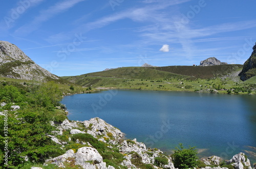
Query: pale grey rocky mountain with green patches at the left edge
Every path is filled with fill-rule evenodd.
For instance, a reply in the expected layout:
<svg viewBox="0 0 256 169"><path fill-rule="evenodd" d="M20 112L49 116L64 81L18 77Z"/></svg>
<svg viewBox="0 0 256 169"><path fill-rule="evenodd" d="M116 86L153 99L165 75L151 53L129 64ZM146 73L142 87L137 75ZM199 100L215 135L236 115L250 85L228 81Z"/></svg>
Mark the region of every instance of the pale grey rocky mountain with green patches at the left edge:
<svg viewBox="0 0 256 169"><path fill-rule="evenodd" d="M60 79L35 64L17 46L6 41L0 41L0 77L36 81Z"/></svg>

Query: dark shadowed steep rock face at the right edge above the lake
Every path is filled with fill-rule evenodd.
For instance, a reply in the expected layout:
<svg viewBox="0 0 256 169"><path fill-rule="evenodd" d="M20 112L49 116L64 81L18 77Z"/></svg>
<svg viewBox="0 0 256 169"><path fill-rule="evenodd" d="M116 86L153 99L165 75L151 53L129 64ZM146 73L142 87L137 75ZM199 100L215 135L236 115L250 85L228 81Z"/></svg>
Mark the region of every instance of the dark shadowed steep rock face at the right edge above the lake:
<svg viewBox="0 0 256 169"><path fill-rule="evenodd" d="M256 75L256 44L252 49L250 58L244 63L243 70L239 74L240 79L243 81Z"/></svg>

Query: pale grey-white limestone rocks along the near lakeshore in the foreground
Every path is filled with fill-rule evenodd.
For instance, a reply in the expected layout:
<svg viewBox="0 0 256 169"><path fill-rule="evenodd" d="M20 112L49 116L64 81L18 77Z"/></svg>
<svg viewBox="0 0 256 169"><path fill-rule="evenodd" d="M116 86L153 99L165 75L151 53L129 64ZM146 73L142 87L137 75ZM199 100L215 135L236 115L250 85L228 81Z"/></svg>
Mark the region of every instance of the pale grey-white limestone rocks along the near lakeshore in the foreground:
<svg viewBox="0 0 256 169"><path fill-rule="evenodd" d="M123 139L124 133L99 118L93 118L89 121L69 121L66 119L60 125L55 125L54 123L52 123L52 125L55 126L57 130L50 136L55 143L62 145L63 148L67 146L69 142L71 142L71 137L73 135L78 133L88 133L94 138L98 139L100 142L108 144L109 148L117 148L119 152L123 154L120 165L125 166L124 168L140 168L138 165L136 166L138 161L142 164L148 164L152 168L175 168L172 162L172 157L163 155L163 152L157 149L147 149L145 144L137 142L136 139ZM67 131L69 131L70 137L67 138L66 142L63 142L57 138ZM79 166L79 168L87 169L115 168L111 165L107 166L106 163L103 162L103 157L89 142L83 142L79 139L76 139L75 142L77 145L81 145L81 148L78 148L77 151L70 149L61 156L48 159L45 161L44 165L54 164L60 168L65 168L67 164L70 166L70 163L72 163L76 167ZM167 164L157 166L157 157L167 158ZM205 158L203 159L203 162L206 164L206 166L201 168L228 169L227 167L220 167L221 161L221 158L217 156ZM247 156L244 153L234 155L233 158L226 163L231 164L235 169L252 169L250 166L250 161L247 159ZM253 167L255 168L256 166ZM39 169L40 167L31 168Z"/></svg>

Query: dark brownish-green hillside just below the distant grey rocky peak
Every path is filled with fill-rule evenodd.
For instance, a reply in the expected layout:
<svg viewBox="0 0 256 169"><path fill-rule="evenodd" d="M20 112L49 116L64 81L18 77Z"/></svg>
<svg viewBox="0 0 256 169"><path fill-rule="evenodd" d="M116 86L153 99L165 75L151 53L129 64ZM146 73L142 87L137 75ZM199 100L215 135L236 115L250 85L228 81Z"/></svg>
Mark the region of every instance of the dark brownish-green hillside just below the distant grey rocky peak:
<svg viewBox="0 0 256 169"><path fill-rule="evenodd" d="M217 66L165 66L149 67L160 71L166 71L196 78L214 78L231 74L232 72L242 70L243 65L217 65Z"/></svg>

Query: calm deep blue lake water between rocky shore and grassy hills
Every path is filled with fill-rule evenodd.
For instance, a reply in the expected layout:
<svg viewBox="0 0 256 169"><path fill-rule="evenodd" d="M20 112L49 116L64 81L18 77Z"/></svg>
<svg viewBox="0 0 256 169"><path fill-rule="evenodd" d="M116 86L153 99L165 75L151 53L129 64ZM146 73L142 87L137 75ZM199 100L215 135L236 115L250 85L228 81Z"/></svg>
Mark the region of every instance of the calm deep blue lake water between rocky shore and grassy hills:
<svg viewBox="0 0 256 169"><path fill-rule="evenodd" d="M99 117L129 139L170 153L179 143L201 157L230 159L244 152L256 162L256 96L111 90L66 96L70 120Z"/></svg>

